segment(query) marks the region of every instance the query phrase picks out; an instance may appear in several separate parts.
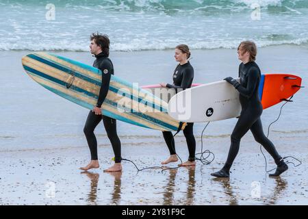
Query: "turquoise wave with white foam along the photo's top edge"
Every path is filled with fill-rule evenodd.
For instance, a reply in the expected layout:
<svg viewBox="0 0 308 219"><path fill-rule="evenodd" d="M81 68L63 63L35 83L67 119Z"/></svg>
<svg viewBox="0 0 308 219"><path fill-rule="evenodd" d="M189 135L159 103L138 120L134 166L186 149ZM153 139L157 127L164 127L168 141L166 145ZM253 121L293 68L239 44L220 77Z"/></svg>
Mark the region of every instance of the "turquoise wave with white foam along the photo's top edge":
<svg viewBox="0 0 308 219"><path fill-rule="evenodd" d="M11 7L44 6L49 1L42 0L23 0L23 1L2 1L1 5L10 5ZM53 0L52 3L61 8L79 8L83 10L114 10L129 12L185 12L210 8L219 10L246 10L252 5L260 8L308 8L308 2L305 0Z"/></svg>

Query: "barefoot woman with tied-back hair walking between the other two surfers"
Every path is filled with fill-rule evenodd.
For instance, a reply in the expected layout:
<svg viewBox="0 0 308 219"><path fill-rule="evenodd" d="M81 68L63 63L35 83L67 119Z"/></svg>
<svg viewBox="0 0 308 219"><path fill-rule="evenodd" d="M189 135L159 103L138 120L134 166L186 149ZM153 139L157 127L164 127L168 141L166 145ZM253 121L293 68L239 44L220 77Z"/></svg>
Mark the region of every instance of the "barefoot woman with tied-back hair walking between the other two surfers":
<svg viewBox="0 0 308 219"><path fill-rule="evenodd" d="M190 88L192 86L192 79L194 79L194 68L188 58L190 57L190 49L185 44L179 44L175 47L175 60L179 62L175 72L173 74L173 84L160 83L162 87L174 88L177 92ZM194 139L193 133L194 123L188 123L183 130L186 142L188 144L188 151L190 153L188 161L181 164L181 166L194 166L196 165L195 152L196 152L196 140ZM170 151L170 157L166 159L162 164L169 164L170 162L177 162L177 153L175 152L175 140L172 132L163 131L164 140Z"/></svg>

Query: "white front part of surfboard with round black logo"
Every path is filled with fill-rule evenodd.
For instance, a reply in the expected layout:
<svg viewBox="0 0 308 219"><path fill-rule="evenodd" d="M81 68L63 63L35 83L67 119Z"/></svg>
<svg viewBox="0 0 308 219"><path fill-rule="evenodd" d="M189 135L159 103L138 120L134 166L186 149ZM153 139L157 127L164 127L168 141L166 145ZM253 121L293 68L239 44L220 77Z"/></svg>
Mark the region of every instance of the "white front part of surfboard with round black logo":
<svg viewBox="0 0 308 219"><path fill-rule="evenodd" d="M227 81L206 83L172 96L168 114L188 123L234 118L240 116L242 109L239 97L238 90Z"/></svg>

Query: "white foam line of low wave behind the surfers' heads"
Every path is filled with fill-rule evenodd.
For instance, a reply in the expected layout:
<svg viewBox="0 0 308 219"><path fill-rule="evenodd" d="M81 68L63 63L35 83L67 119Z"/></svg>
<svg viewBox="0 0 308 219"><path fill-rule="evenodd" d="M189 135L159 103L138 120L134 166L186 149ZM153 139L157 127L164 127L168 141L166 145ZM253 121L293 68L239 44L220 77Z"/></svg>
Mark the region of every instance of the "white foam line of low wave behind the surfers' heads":
<svg viewBox="0 0 308 219"><path fill-rule="evenodd" d="M243 40L213 40L211 42L185 42L190 49L236 49L238 44ZM274 45L307 45L308 38L298 38L294 40L255 40L258 47L270 47ZM174 49L177 44L175 42L149 42L149 40L140 40L138 42L114 43L111 51L148 51L148 50L168 50ZM86 52L88 42L71 44L62 44L62 42L40 42L40 43L5 43L0 42L0 51L76 51Z"/></svg>

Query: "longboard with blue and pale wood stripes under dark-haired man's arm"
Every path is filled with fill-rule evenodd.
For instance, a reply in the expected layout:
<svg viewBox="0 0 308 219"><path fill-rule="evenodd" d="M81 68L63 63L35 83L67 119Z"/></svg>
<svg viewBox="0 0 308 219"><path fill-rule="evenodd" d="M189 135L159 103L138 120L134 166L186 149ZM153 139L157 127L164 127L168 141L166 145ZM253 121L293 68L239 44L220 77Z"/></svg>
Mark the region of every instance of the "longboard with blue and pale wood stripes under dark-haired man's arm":
<svg viewBox="0 0 308 219"><path fill-rule="evenodd" d="M34 81L51 92L89 110L97 103L101 70L51 53L25 55L22 64ZM177 131L180 123L167 109L168 103L151 92L112 75L102 114L140 127Z"/></svg>

